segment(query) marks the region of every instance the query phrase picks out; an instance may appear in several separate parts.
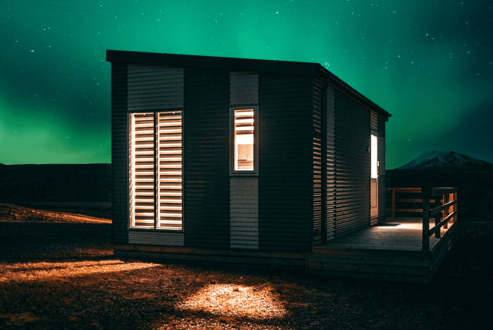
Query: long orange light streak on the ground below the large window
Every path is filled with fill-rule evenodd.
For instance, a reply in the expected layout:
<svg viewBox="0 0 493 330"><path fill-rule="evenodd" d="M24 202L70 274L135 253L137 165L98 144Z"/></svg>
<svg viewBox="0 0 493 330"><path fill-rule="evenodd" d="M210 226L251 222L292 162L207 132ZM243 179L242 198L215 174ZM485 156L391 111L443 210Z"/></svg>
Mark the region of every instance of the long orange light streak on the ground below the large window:
<svg viewBox="0 0 493 330"><path fill-rule="evenodd" d="M0 283L9 281L54 280L154 266L159 265L145 262L126 263L120 260L0 264Z"/></svg>

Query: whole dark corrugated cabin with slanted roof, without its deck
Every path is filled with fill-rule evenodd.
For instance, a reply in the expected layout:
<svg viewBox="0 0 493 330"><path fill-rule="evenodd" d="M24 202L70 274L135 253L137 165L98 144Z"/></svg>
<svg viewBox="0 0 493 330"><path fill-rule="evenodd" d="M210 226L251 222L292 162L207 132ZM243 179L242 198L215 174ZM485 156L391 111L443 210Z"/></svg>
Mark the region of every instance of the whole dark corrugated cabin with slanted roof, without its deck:
<svg viewBox="0 0 493 330"><path fill-rule="evenodd" d="M390 114L319 64L107 60L121 251L306 253L384 219Z"/></svg>

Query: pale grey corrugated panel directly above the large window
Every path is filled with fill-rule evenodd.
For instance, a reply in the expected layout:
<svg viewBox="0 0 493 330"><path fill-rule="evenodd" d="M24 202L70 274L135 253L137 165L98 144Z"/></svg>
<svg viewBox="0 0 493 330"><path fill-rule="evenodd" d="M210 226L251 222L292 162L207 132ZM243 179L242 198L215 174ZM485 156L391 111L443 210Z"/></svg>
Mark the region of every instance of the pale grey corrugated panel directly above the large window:
<svg viewBox="0 0 493 330"><path fill-rule="evenodd" d="M183 107L183 68L128 65L128 110Z"/></svg>

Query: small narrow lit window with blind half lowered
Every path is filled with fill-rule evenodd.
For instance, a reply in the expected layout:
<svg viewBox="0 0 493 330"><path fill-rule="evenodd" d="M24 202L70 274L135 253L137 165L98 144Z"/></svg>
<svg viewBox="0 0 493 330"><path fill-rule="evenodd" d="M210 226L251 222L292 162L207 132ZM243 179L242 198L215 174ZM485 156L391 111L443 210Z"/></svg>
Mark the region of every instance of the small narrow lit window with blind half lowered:
<svg viewBox="0 0 493 330"><path fill-rule="evenodd" d="M255 125L254 109L233 110L233 171L254 172Z"/></svg>

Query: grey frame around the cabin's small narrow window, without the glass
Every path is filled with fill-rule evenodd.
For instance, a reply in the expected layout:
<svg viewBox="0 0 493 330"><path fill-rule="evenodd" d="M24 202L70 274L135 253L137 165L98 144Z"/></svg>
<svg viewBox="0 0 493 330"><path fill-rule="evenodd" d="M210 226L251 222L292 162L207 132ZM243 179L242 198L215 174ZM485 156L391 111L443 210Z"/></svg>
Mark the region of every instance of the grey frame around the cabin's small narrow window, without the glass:
<svg viewBox="0 0 493 330"><path fill-rule="evenodd" d="M253 170L234 170L235 162L235 130L234 112L237 110L254 111L254 169ZM258 128L258 105L235 105L229 107L229 175L231 176L257 176L259 174L259 128Z"/></svg>

